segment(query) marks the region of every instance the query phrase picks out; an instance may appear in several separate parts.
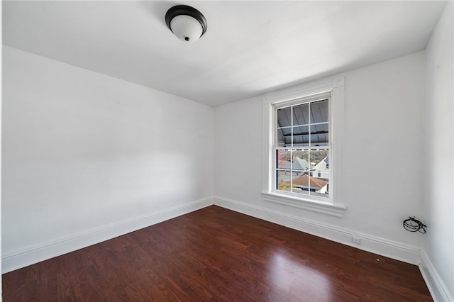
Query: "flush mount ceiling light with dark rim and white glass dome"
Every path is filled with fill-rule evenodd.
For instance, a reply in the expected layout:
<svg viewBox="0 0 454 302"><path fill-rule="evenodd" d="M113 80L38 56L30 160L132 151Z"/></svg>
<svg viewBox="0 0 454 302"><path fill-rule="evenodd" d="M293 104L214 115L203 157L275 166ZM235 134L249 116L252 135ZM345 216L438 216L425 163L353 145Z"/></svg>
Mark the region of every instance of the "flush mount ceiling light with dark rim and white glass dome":
<svg viewBox="0 0 454 302"><path fill-rule="evenodd" d="M206 32L206 19L191 6L177 5L165 14L165 23L184 42L194 42Z"/></svg>

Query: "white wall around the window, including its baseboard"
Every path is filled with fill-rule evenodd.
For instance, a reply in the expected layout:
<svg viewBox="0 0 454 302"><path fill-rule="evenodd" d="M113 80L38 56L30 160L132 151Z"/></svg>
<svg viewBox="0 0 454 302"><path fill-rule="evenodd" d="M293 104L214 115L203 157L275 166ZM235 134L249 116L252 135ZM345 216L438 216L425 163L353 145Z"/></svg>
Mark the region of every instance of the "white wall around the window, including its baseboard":
<svg viewBox="0 0 454 302"><path fill-rule="evenodd" d="M216 107L214 202L417 264L423 235L402 221L423 214L425 52L344 75L342 218L262 201L262 97Z"/></svg>

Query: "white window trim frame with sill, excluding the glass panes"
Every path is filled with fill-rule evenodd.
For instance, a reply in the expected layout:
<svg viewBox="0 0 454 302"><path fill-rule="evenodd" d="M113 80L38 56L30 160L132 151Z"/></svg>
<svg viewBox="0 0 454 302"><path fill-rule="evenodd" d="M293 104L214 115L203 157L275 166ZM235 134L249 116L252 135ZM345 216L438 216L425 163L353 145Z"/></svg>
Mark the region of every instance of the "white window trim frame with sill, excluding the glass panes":
<svg viewBox="0 0 454 302"><path fill-rule="evenodd" d="M275 104L289 102L294 99L306 98L331 91L331 152L330 173L332 173L332 192L330 198L316 198L316 196L292 196L279 194L272 190L273 164L273 114ZM279 203L295 208L323 213L330 216L343 216L347 208L341 201L342 188L342 144L344 120L344 77L323 79L309 84L294 86L289 89L266 94L263 100L263 164L262 164L262 198L264 201ZM330 184L331 185L331 184Z"/></svg>

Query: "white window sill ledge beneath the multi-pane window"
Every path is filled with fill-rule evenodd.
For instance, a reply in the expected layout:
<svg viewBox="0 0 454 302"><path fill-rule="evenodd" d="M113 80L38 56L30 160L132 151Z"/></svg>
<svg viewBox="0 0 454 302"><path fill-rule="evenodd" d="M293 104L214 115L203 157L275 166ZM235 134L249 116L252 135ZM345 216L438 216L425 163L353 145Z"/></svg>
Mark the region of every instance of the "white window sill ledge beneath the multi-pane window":
<svg viewBox="0 0 454 302"><path fill-rule="evenodd" d="M326 215L336 217L342 217L343 212L347 208L346 206L341 206L333 203L311 201L307 199L285 196L270 192L262 192L262 198L264 201L279 203L285 206L292 206L294 208L302 208L304 210L323 213Z"/></svg>

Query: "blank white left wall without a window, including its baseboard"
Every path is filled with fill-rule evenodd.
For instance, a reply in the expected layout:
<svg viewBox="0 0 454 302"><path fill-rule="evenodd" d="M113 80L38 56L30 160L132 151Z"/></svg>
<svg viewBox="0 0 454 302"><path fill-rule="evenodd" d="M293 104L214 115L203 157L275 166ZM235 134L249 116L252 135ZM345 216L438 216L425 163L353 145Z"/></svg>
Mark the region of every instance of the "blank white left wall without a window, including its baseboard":
<svg viewBox="0 0 454 302"><path fill-rule="evenodd" d="M3 56L5 272L212 203L214 108Z"/></svg>

